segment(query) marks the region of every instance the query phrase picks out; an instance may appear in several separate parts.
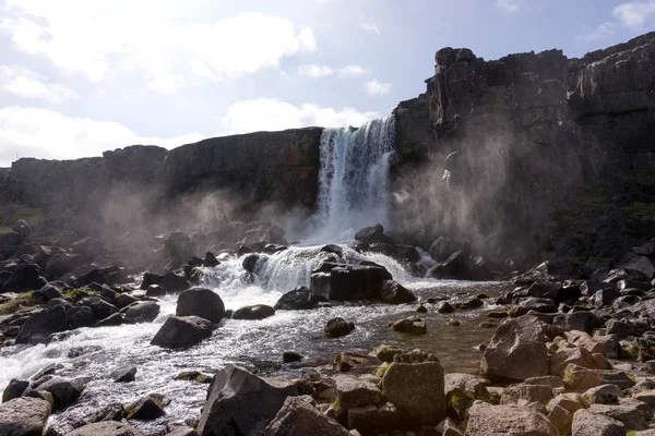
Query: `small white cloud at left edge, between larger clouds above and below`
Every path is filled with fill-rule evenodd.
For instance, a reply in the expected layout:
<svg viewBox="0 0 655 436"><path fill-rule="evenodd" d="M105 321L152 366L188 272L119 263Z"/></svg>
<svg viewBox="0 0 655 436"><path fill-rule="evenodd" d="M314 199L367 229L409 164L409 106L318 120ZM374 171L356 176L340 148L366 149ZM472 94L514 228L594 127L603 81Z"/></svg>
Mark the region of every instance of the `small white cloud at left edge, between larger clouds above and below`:
<svg viewBox="0 0 655 436"><path fill-rule="evenodd" d="M0 90L52 104L80 98L75 92L63 85L46 83L44 77L29 70L7 65L0 65Z"/></svg>

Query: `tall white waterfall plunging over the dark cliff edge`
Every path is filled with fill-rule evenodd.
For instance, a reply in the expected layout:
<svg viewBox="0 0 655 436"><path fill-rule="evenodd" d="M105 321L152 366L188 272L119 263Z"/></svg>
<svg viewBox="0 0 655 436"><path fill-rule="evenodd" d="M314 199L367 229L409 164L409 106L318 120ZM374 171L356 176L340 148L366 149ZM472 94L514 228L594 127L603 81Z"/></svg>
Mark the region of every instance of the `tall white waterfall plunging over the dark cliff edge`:
<svg viewBox="0 0 655 436"><path fill-rule="evenodd" d="M325 129L321 136L317 234L352 240L357 230L389 225L389 164L395 149L395 118L359 129Z"/></svg>

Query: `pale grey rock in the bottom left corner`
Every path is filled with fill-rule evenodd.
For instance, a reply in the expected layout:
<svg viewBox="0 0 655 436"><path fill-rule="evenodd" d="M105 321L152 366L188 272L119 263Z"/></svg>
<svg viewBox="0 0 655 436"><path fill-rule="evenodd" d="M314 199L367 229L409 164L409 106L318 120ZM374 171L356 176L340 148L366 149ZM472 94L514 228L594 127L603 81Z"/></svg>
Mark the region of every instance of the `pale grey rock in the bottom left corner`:
<svg viewBox="0 0 655 436"><path fill-rule="evenodd" d="M0 435L41 435L50 411L50 403L38 398L14 398L2 402L0 404Z"/></svg>

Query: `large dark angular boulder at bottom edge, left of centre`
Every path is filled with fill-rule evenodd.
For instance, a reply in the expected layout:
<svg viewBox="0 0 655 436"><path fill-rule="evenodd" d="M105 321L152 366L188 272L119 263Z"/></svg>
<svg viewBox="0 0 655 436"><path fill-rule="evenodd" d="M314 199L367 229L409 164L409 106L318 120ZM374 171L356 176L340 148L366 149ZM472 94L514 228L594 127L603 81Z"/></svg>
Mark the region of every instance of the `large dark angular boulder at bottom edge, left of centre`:
<svg viewBox="0 0 655 436"><path fill-rule="evenodd" d="M297 395L296 385L274 386L230 364L212 380L198 432L203 436L255 434L275 417L287 397Z"/></svg>

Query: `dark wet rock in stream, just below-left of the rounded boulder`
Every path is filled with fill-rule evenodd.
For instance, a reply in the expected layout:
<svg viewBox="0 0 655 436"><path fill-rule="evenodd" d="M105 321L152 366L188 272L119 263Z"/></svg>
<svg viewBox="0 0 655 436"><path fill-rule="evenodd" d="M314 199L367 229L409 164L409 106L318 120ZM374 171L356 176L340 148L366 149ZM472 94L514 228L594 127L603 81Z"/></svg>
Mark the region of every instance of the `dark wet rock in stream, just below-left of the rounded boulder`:
<svg viewBox="0 0 655 436"><path fill-rule="evenodd" d="M157 331L151 344L184 348L212 336L212 323L199 316L170 316Z"/></svg>

